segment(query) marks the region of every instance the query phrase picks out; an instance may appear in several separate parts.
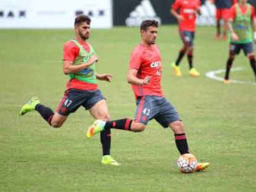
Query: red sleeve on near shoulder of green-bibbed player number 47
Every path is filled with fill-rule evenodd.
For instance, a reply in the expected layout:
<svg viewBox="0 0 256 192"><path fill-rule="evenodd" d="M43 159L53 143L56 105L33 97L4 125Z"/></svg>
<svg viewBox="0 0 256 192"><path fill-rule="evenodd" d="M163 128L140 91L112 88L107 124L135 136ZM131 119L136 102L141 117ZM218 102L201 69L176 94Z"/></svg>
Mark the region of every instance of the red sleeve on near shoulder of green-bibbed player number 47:
<svg viewBox="0 0 256 192"><path fill-rule="evenodd" d="M74 61L79 55L79 48L71 41L63 46L63 61Z"/></svg>

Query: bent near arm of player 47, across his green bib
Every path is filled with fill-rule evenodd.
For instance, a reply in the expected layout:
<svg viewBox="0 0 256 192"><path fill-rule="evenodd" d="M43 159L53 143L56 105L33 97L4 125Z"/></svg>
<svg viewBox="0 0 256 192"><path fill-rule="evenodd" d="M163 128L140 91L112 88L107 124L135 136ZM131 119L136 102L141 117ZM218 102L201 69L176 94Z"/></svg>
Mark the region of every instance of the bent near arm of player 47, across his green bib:
<svg viewBox="0 0 256 192"><path fill-rule="evenodd" d="M70 73L77 73L80 70L86 69L90 67L90 65L94 64L95 62L98 62L98 56L93 55L88 62L80 64L80 65L73 65L73 61L63 61L63 72L65 75L68 75Z"/></svg>

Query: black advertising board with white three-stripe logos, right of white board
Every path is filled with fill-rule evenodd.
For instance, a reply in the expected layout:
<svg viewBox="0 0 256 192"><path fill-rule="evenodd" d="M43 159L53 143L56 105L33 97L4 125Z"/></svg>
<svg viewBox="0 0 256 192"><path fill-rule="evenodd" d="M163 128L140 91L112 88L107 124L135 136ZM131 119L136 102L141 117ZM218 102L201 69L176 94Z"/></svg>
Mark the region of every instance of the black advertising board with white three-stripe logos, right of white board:
<svg viewBox="0 0 256 192"><path fill-rule="evenodd" d="M256 7L256 0L248 0ZM113 0L113 23L116 26L138 26L144 19L156 19L162 24L176 24L176 19L170 14L174 0ZM215 6L202 0L202 15L197 19L197 25L215 25Z"/></svg>

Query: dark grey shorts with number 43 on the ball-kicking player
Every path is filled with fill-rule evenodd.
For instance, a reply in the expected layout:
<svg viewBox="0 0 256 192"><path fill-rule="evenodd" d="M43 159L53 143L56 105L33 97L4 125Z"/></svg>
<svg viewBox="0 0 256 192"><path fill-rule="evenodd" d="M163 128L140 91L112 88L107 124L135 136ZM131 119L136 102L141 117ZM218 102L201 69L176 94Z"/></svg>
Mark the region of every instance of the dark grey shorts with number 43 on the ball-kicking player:
<svg viewBox="0 0 256 192"><path fill-rule="evenodd" d="M181 120L176 109L166 98L158 96L143 96L136 101L135 122L147 125L148 121L155 119L164 128L169 123Z"/></svg>

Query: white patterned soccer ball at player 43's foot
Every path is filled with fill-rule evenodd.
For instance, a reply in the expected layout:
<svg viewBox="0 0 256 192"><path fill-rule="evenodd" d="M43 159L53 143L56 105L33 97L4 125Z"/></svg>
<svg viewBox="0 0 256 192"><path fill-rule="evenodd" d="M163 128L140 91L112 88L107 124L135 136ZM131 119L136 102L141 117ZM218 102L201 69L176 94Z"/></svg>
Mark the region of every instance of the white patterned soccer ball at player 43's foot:
<svg viewBox="0 0 256 192"><path fill-rule="evenodd" d="M192 154L182 154L177 160L177 165L182 173L193 173L197 169L197 158Z"/></svg>

